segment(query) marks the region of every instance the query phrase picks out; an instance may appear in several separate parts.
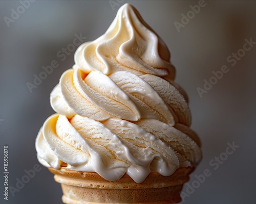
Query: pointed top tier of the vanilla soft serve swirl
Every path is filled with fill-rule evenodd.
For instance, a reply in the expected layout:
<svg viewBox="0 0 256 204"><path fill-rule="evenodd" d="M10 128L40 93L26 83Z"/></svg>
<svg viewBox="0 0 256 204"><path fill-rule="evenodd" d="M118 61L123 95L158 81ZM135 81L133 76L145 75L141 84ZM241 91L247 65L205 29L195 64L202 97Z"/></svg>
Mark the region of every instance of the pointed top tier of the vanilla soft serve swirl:
<svg viewBox="0 0 256 204"><path fill-rule="evenodd" d="M175 68L163 40L130 4L123 5L109 29L94 41L83 43L75 53L75 66L84 72L129 71L174 80Z"/></svg>

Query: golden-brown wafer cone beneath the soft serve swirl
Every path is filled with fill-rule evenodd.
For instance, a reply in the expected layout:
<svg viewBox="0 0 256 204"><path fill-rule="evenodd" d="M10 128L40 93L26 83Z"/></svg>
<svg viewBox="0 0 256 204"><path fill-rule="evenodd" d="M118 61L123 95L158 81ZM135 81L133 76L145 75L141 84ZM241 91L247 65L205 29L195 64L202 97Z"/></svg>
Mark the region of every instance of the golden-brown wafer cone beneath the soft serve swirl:
<svg viewBox="0 0 256 204"><path fill-rule="evenodd" d="M179 168L170 176L150 173L138 184L124 174L117 181L108 181L94 172L80 172L65 168L49 168L54 179L61 184L62 201L70 204L103 203L177 203L181 201L183 184L189 180L194 168Z"/></svg>

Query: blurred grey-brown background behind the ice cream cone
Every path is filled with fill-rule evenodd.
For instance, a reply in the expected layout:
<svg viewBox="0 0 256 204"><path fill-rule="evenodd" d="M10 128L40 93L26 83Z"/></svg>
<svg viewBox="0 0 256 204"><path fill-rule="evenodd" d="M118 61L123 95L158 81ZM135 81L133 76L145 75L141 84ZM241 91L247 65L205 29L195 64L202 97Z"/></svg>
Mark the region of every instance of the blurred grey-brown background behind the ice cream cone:
<svg viewBox="0 0 256 204"><path fill-rule="evenodd" d="M35 1L24 10L19 1L1 1L1 192L4 145L9 149L9 187L16 188L25 170L39 164L34 143L41 125L54 113L50 92L74 64L74 51L63 61L57 53L73 42L75 34L86 36L84 42L102 35L125 3L133 4L165 41L176 66L176 82L189 95L192 128L201 137L204 157L189 182L197 188L183 188L188 195L184 203L255 203L256 46L245 53L240 50L245 39L256 42L254 1L205 1L198 14L188 13L191 19L179 29L175 21L181 23L182 14L198 1ZM11 16L17 9L21 14ZM238 50L244 56L231 66L227 58ZM26 84L53 60L59 66L30 93ZM229 71L200 97L197 88L224 65ZM226 158L228 142L239 147ZM216 168L211 160L220 155L224 161ZM40 167L14 196L9 191L8 201L2 195L0 203L62 203L60 185L47 168ZM197 186L195 175L205 169L211 175Z"/></svg>

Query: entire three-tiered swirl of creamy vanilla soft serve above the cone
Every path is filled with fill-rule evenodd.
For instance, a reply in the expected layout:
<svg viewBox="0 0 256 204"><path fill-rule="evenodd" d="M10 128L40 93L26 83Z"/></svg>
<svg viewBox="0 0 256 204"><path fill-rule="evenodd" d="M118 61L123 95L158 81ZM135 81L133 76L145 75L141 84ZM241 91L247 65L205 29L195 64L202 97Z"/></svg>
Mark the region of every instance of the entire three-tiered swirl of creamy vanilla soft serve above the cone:
<svg viewBox="0 0 256 204"><path fill-rule="evenodd" d="M184 90L162 39L131 5L109 29L76 50L75 65L50 94L56 114L36 138L38 161L136 183L201 160Z"/></svg>

